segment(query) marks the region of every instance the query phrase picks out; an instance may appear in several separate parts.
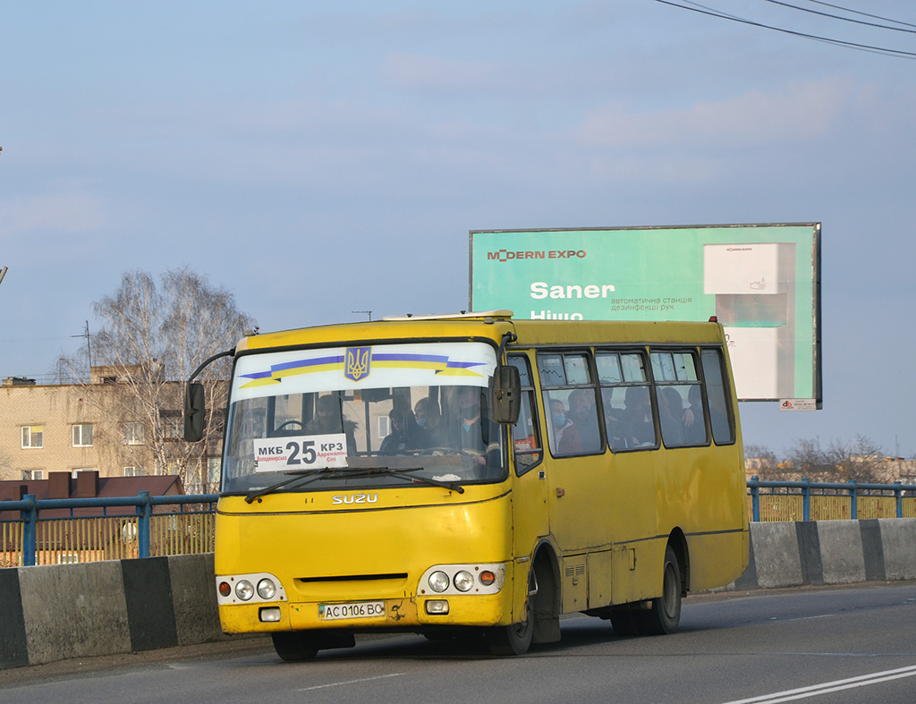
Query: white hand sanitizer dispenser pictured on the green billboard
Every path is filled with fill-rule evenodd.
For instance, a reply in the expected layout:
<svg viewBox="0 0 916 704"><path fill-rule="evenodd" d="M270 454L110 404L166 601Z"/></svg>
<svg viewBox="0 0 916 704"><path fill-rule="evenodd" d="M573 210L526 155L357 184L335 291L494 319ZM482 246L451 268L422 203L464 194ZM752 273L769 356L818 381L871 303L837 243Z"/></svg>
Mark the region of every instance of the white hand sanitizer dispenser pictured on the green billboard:
<svg viewBox="0 0 916 704"><path fill-rule="evenodd" d="M795 395L795 244L703 245L703 293L715 296L738 398Z"/></svg>

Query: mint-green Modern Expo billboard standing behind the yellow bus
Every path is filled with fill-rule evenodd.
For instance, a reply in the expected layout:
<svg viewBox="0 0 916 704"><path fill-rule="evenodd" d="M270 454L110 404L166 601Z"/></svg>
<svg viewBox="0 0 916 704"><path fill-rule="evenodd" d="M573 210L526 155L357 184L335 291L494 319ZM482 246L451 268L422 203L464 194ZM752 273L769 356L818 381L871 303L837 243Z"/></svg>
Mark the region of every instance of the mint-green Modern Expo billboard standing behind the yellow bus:
<svg viewBox="0 0 916 704"><path fill-rule="evenodd" d="M820 222L474 230L470 241L472 310L532 320L717 316L739 399L821 407Z"/></svg>

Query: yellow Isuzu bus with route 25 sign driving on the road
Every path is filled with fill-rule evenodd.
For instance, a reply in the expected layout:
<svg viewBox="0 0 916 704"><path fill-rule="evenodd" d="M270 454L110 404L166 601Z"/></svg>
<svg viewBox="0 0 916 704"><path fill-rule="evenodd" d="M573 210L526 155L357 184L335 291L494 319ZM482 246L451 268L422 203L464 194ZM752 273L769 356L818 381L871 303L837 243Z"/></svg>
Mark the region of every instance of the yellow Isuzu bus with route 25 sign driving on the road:
<svg viewBox="0 0 916 704"><path fill-rule="evenodd" d="M573 612L667 634L688 591L747 567L714 320L496 310L256 334L225 354L220 619L271 634L284 660L368 632L519 655Z"/></svg>

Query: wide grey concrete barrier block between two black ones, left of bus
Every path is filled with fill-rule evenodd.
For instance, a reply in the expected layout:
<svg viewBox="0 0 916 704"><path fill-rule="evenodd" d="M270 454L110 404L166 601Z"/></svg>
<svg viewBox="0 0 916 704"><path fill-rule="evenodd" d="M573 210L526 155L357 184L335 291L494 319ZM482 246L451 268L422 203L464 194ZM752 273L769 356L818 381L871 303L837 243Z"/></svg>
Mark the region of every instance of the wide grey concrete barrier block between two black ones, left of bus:
<svg viewBox="0 0 916 704"><path fill-rule="evenodd" d="M130 652L120 562L19 570L28 662Z"/></svg>

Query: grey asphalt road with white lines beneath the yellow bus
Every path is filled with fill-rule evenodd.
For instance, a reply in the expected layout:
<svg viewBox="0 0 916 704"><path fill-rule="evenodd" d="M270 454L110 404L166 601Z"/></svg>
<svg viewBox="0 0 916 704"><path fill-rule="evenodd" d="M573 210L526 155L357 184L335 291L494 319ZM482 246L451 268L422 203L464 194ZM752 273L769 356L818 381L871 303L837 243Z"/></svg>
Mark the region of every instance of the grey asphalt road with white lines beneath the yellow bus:
<svg viewBox="0 0 916 704"><path fill-rule="evenodd" d="M701 595L677 634L619 638L575 616L562 636L512 658L384 636L297 664L249 639L0 671L0 701L916 701L916 582Z"/></svg>

